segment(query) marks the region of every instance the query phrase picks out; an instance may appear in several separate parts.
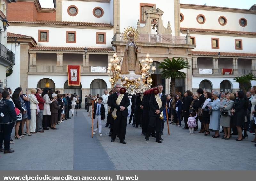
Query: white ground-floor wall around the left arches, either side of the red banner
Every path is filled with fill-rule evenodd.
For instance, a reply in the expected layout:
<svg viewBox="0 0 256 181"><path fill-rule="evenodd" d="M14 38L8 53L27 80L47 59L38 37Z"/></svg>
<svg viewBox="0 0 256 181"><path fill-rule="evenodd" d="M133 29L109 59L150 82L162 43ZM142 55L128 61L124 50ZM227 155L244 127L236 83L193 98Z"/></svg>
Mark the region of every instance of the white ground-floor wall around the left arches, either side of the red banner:
<svg viewBox="0 0 256 181"><path fill-rule="evenodd" d="M41 79L44 78L48 78L48 79L52 79L52 81L55 83L55 87L56 89L58 88L63 88L64 87L64 83L68 80L68 76L66 75L28 75L28 89L31 88L35 88L37 87L38 82ZM109 77L104 75L104 76L93 76L93 75L89 75L89 76L81 76L81 84L82 84L82 88L85 89L89 89L90 88L90 84L94 79L103 79L106 84L108 89L110 89L110 82L109 82Z"/></svg>

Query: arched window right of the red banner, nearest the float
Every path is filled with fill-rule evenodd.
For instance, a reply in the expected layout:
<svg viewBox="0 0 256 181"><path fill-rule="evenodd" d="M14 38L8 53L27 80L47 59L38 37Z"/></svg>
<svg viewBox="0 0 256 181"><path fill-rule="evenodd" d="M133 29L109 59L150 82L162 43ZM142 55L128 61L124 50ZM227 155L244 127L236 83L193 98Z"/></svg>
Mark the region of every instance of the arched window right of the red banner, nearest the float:
<svg viewBox="0 0 256 181"><path fill-rule="evenodd" d="M107 89L107 84L102 79L94 79L90 84L90 94L97 95L99 94L102 96L104 94L104 91Z"/></svg>

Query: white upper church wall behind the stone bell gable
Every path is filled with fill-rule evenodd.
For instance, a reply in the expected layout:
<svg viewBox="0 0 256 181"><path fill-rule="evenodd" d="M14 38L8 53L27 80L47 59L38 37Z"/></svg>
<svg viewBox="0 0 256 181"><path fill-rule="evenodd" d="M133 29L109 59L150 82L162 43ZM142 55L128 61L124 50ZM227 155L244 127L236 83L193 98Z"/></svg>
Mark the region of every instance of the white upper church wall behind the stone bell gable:
<svg viewBox="0 0 256 181"><path fill-rule="evenodd" d="M156 8L164 11L162 16L163 25L167 28L168 21L171 23L172 35L174 35L174 0L121 0L120 1L120 31L123 32L128 26L137 27L140 19L140 3L156 4ZM143 27L145 24L140 24Z"/></svg>

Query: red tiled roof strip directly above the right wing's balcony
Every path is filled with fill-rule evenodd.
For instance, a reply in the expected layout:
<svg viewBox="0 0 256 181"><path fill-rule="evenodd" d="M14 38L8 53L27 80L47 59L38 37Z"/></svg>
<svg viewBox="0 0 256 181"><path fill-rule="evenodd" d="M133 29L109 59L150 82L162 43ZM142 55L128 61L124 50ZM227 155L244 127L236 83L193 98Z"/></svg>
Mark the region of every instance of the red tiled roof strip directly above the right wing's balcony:
<svg viewBox="0 0 256 181"><path fill-rule="evenodd" d="M210 52L210 51L192 51L192 55L216 56L216 57L218 57L218 52ZM223 57L256 57L256 53L220 52L220 56L223 56Z"/></svg>

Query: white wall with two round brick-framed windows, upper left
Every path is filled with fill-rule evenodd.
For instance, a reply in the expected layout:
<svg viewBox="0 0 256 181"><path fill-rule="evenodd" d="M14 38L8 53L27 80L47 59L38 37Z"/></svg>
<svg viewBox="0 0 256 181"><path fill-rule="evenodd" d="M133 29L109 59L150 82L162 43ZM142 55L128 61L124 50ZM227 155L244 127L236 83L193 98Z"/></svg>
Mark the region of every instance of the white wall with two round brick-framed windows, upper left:
<svg viewBox="0 0 256 181"><path fill-rule="evenodd" d="M78 8L76 16L70 16L67 12L69 6L75 5ZM102 17L97 18L92 11L95 7L101 7L104 11ZM62 1L62 21L92 22L92 23L110 23L109 3L88 2L88 1Z"/></svg>

